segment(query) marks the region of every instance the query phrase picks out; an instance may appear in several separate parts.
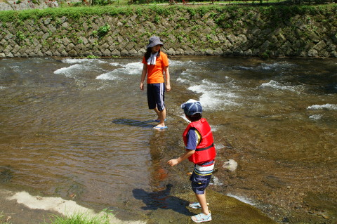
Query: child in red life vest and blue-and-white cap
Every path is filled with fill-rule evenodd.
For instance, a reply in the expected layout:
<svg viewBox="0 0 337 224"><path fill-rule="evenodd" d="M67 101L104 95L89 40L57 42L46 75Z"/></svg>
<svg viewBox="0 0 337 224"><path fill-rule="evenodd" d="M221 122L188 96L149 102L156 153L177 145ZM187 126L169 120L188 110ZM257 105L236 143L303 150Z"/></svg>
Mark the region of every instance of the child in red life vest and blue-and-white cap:
<svg viewBox="0 0 337 224"><path fill-rule="evenodd" d="M216 157L213 134L209 123L206 119L201 118L202 107L198 101L188 100L181 105L181 108L183 108L186 118L191 121L183 133L186 152L178 159L171 159L167 163L170 166L176 166L187 158L194 163L194 171L190 180L192 181L192 190L199 203L192 203L190 207L201 209L202 213L191 218L195 223L208 222L212 218L207 206L205 190L211 180Z"/></svg>

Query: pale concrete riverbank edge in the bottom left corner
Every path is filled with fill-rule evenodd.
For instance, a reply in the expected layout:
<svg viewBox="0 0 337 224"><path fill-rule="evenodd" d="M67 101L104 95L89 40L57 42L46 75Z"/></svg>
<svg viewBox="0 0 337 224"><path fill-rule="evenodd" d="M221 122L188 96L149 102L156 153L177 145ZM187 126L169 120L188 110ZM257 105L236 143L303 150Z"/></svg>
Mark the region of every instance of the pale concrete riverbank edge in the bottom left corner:
<svg viewBox="0 0 337 224"><path fill-rule="evenodd" d="M51 223L55 216L73 217L85 216L88 219L107 217L109 223L116 224L145 224L143 220L120 220L105 211L96 212L77 204L72 200L60 197L41 197L30 195L29 192L14 192L0 188L0 213L5 223L38 224ZM1 222L2 223L2 222Z"/></svg>

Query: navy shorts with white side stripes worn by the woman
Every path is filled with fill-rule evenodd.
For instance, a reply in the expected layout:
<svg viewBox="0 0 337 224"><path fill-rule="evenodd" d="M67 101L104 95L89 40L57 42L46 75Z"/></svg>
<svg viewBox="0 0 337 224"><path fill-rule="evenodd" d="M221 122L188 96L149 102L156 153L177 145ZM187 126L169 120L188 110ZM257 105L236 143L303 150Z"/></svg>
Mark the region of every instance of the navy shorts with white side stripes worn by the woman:
<svg viewBox="0 0 337 224"><path fill-rule="evenodd" d="M149 109L157 107L159 111L164 110L165 84L147 84L147 103Z"/></svg>

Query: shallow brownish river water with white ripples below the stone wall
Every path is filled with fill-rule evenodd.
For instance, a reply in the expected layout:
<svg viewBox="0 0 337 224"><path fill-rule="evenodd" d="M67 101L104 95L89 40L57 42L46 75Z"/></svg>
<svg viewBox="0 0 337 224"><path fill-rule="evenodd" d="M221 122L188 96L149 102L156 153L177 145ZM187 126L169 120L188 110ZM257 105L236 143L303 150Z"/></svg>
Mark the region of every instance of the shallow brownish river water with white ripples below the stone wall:
<svg viewBox="0 0 337 224"><path fill-rule="evenodd" d="M190 164L166 161L183 152L180 104L194 98L218 150L213 189L266 213L336 217L336 59L171 58L165 131L152 129L140 60L0 60L0 185L144 211L143 192L189 190Z"/></svg>

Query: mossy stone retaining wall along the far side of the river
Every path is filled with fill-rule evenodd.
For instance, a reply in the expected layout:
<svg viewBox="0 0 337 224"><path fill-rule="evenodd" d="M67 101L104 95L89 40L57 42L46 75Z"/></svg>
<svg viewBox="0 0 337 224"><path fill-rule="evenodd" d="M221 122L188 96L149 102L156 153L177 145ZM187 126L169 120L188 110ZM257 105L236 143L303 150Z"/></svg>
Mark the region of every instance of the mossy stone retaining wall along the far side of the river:
<svg viewBox="0 0 337 224"><path fill-rule="evenodd" d="M137 56L153 34L164 39L169 55L336 58L337 6L310 7L296 13L284 6L171 6L164 12L13 19L0 22L0 58Z"/></svg>

